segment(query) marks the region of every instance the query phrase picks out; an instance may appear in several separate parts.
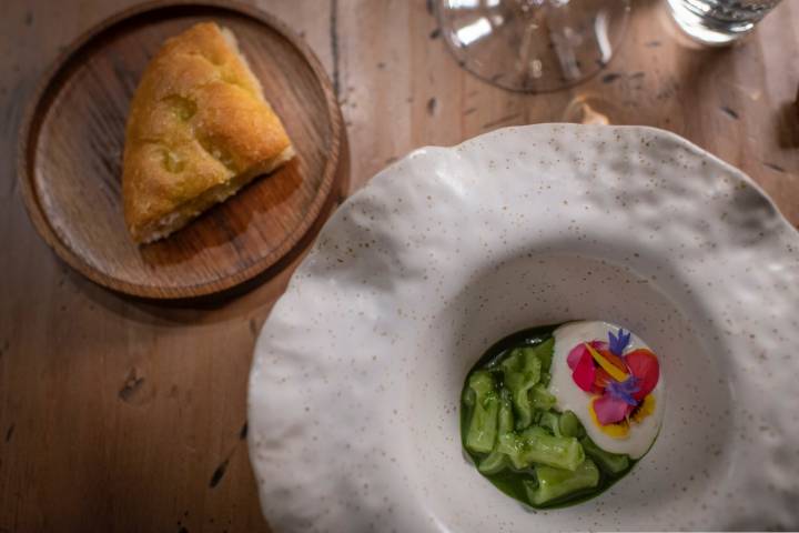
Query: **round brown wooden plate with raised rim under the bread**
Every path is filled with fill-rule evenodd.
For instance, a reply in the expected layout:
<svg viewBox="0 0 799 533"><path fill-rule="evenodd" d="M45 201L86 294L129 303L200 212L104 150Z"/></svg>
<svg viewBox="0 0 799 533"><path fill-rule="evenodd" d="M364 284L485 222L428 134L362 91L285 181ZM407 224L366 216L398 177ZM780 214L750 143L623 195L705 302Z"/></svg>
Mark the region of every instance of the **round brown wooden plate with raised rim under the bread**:
<svg viewBox="0 0 799 533"><path fill-rule="evenodd" d="M122 217L122 148L139 78L164 40L213 20L232 29L297 157L165 240L138 247ZM330 80L281 22L231 2L154 2L100 23L45 77L20 137L19 174L39 233L74 269L124 293L182 299L231 289L309 231L344 145Z"/></svg>

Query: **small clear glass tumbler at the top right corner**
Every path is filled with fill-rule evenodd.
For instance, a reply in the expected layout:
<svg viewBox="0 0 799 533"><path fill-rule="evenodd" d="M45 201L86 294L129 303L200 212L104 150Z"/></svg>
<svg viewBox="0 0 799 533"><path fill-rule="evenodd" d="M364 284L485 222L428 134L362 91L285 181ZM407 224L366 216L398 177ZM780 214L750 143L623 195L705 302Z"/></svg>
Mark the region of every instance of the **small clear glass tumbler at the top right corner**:
<svg viewBox="0 0 799 533"><path fill-rule="evenodd" d="M728 44L749 33L780 0L668 0L677 24L705 44Z"/></svg>

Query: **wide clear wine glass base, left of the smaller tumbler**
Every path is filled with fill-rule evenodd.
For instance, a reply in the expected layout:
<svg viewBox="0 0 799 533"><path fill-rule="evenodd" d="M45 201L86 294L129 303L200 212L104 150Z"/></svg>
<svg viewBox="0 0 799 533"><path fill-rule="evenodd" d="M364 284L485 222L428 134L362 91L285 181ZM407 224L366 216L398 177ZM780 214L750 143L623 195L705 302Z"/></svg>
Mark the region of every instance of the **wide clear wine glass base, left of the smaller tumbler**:
<svg viewBox="0 0 799 533"><path fill-rule="evenodd" d="M458 63L495 86L546 92L601 70L627 26L630 0L436 0Z"/></svg>

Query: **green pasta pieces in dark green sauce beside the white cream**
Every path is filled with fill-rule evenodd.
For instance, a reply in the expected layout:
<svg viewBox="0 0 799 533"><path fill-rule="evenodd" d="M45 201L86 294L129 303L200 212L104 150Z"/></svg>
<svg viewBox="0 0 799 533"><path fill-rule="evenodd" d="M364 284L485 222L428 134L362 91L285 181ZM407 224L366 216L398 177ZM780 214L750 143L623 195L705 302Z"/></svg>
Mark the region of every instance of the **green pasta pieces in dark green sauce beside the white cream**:
<svg viewBox="0 0 799 533"><path fill-rule="evenodd" d="M636 463L598 449L574 413L553 409L546 386L558 325L495 343L469 370L461 394L464 450L497 489L534 509L589 500Z"/></svg>

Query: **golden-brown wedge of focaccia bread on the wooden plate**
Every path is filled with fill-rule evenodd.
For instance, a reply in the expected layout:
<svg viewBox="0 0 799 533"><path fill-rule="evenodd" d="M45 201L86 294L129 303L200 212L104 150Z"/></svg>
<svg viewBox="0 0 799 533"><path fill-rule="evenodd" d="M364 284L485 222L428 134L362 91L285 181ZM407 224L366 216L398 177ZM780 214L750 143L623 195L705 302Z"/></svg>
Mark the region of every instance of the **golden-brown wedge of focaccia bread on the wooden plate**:
<svg viewBox="0 0 799 533"><path fill-rule="evenodd" d="M213 22L173 37L131 102L122 170L134 241L182 228L294 157L235 37Z"/></svg>

